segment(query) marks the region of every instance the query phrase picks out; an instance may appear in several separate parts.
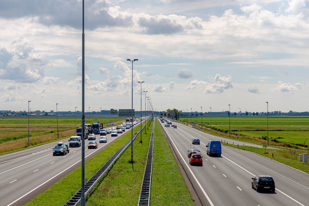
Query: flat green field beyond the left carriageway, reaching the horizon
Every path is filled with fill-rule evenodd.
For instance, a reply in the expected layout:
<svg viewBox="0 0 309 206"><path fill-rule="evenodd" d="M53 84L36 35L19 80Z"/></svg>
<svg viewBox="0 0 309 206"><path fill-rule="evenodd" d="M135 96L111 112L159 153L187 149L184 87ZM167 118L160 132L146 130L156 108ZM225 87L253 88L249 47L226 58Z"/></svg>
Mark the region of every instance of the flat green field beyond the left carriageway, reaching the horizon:
<svg viewBox="0 0 309 206"><path fill-rule="evenodd" d="M96 117L96 119L95 119ZM90 123L99 121L97 116L90 116ZM109 123L109 116L101 116L103 124ZM112 117L111 121L116 122L125 120L125 117ZM85 124L88 124L89 119L85 117ZM76 125L82 124L81 117L76 118ZM75 129L75 117L58 116L58 131L66 131ZM46 135L49 133L57 133L57 117L55 116L32 116L29 118L29 130L31 137ZM28 116L27 117L2 117L0 119L0 143L28 138Z"/></svg>

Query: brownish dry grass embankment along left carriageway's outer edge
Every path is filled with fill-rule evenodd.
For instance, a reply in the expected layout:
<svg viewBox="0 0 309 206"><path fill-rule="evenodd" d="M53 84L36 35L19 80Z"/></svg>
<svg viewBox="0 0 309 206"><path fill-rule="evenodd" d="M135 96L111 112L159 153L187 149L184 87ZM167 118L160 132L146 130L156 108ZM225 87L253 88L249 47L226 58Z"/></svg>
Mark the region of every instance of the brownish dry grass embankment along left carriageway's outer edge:
<svg viewBox="0 0 309 206"><path fill-rule="evenodd" d="M123 120L120 120L117 122L112 122L112 124L121 124L122 122ZM0 128L0 131L1 131L1 128ZM15 151L19 151L22 149L31 148L31 147L35 147L38 145L43 145L46 143L57 141L58 139L57 138L57 124L56 124L56 132L45 132L45 133L46 134L30 136L29 137L29 147L28 147L28 131L26 135L27 137L0 143L0 154L15 152ZM71 137L71 136L74 136L75 134L76 134L75 129L65 130L62 132L59 131L59 139Z"/></svg>

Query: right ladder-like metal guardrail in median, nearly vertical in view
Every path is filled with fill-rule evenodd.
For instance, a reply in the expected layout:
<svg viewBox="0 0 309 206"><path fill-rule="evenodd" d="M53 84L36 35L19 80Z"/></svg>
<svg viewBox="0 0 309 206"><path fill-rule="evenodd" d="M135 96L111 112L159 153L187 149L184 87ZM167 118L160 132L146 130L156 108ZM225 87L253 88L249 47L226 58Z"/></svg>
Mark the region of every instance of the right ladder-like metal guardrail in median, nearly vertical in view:
<svg viewBox="0 0 309 206"><path fill-rule="evenodd" d="M149 205L150 204L150 187L151 187L151 174L152 174L152 152L154 145L154 136L155 136L155 120L152 125L149 149L148 149L148 157L145 168L145 173L142 182L141 194L138 198L138 206L140 205Z"/></svg>

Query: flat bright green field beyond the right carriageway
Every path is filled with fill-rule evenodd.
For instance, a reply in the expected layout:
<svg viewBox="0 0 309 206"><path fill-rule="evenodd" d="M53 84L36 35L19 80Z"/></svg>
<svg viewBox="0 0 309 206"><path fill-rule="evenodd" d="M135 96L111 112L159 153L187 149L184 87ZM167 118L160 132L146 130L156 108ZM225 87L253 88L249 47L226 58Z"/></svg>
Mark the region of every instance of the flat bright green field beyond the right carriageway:
<svg viewBox="0 0 309 206"><path fill-rule="evenodd" d="M181 121L187 118L181 117ZM195 124L201 124L201 117L195 117ZM269 140L305 147L309 145L309 117L269 117ZM188 117L188 122L191 117ZM194 118L192 118L194 121ZM229 132L229 117L212 117L212 128L222 133ZM203 127L210 128L210 117L203 117ZM231 116L231 134L262 139L267 137L267 117ZM274 144L275 144L274 143Z"/></svg>

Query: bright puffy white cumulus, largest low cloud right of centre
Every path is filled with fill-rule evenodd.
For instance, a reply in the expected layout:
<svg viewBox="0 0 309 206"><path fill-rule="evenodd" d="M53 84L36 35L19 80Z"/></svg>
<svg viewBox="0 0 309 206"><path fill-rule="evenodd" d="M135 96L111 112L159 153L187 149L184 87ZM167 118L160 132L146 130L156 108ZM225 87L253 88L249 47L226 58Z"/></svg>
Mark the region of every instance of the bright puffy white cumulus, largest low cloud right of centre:
<svg viewBox="0 0 309 206"><path fill-rule="evenodd" d="M231 76L221 77L220 74L217 74L213 79L213 83L205 88L204 93L222 93L224 89L229 88L233 88Z"/></svg>

